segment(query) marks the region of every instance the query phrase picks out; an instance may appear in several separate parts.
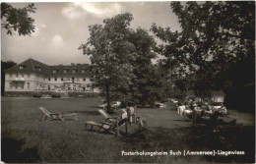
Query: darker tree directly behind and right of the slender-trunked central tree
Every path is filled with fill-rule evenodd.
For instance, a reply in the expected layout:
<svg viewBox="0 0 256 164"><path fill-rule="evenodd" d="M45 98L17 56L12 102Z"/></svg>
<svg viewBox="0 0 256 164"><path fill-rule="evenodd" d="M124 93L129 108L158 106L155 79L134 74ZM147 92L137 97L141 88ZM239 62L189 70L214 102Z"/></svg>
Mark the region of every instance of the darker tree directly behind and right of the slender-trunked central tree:
<svg viewBox="0 0 256 164"><path fill-rule="evenodd" d="M130 92L134 101L145 105L149 103L154 105L159 97L160 75L156 66L152 64L152 59L157 57L153 51L156 41L149 32L138 27L130 34L130 42L136 49L136 58L132 63L134 67L135 78L130 85Z"/></svg>

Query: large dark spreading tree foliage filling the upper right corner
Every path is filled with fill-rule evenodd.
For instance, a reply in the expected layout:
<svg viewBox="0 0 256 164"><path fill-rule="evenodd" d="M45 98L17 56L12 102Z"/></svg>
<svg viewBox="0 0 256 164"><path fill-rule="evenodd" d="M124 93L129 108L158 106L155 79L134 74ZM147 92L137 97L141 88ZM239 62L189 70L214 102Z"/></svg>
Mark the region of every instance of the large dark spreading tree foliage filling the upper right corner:
<svg viewBox="0 0 256 164"><path fill-rule="evenodd" d="M156 24L152 30L165 42L157 50L167 65L173 64L177 80L187 77L190 87L204 95L207 89L224 88L231 66L244 59L254 63L254 2L172 2L170 7L181 32Z"/></svg>

